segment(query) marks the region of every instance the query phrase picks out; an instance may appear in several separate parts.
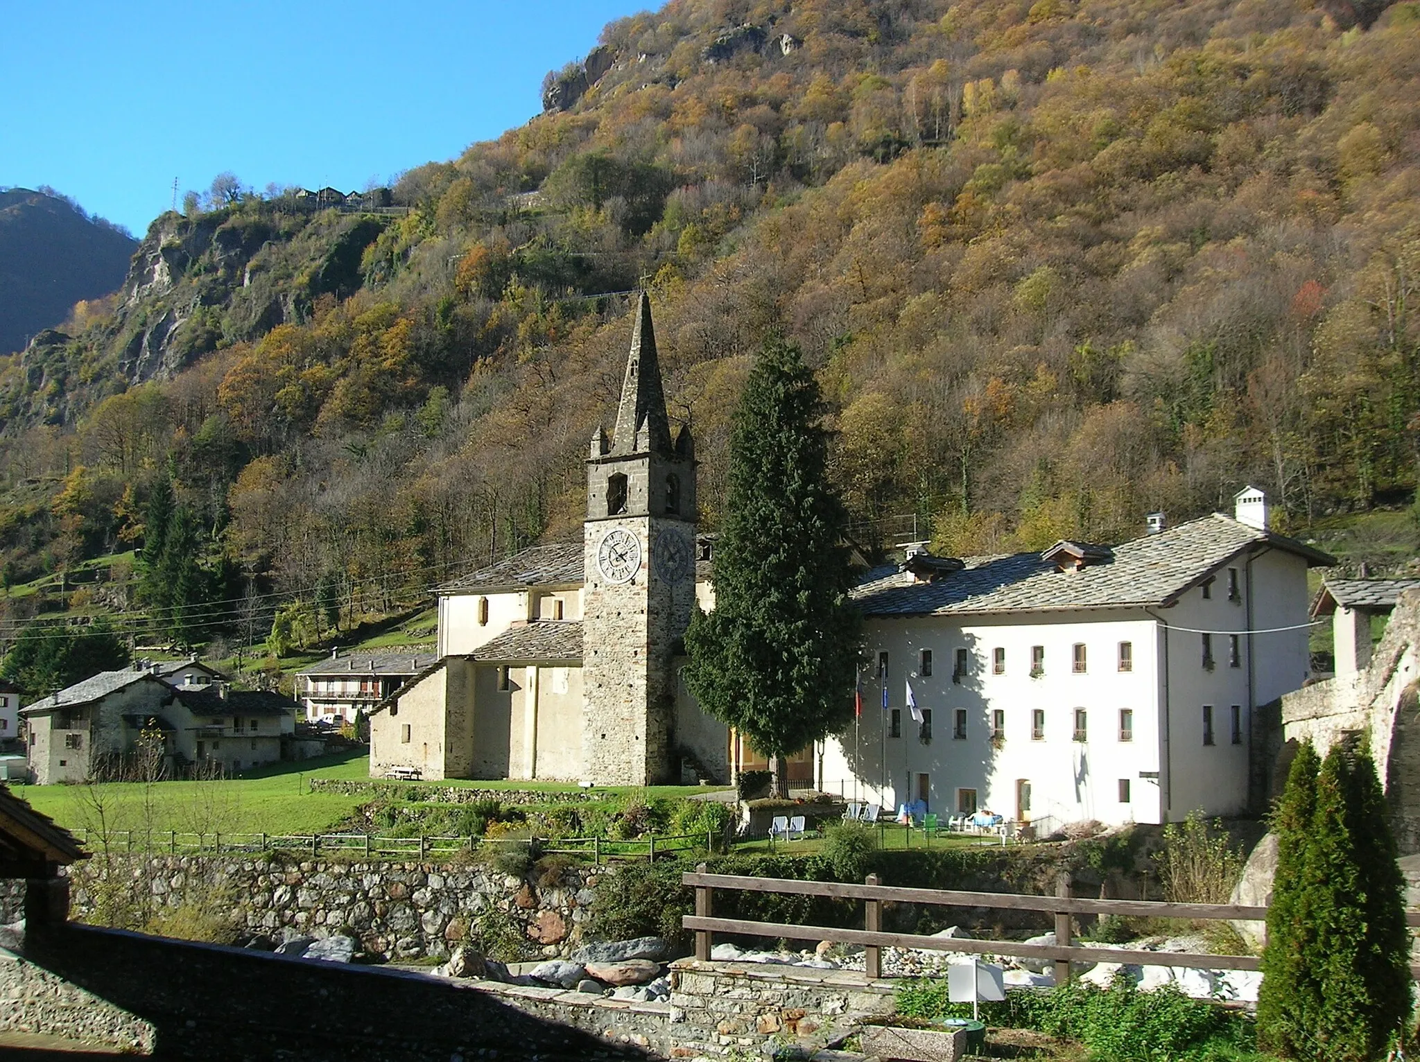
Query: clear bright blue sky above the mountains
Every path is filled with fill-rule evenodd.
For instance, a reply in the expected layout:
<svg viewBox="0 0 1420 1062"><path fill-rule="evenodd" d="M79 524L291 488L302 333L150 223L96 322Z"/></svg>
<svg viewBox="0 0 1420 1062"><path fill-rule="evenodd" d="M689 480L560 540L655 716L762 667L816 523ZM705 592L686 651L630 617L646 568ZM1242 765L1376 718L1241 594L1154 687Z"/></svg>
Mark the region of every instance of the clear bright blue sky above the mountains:
<svg viewBox="0 0 1420 1062"><path fill-rule="evenodd" d="M541 109L542 75L656 0L0 0L0 186L142 236L178 177L342 190Z"/></svg>

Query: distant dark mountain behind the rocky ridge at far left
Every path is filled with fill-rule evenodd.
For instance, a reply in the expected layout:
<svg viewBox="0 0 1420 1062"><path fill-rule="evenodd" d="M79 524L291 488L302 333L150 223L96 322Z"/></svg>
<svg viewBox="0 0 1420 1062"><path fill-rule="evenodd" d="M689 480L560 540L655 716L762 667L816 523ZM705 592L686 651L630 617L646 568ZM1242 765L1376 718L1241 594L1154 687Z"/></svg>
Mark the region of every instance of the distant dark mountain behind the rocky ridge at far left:
<svg viewBox="0 0 1420 1062"><path fill-rule="evenodd" d="M0 192L0 354L118 290L138 241L43 192Z"/></svg>

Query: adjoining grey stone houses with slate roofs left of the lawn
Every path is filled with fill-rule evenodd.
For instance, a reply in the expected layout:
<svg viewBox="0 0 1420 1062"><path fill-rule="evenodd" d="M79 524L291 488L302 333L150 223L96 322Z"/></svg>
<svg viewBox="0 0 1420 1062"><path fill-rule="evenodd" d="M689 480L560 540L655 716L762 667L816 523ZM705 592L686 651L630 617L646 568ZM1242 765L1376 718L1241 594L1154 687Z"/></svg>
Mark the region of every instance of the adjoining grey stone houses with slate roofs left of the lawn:
<svg viewBox="0 0 1420 1062"><path fill-rule="evenodd" d="M26 754L38 785L122 774L145 741L160 738L168 777L234 774L281 758L297 704L224 681L172 684L156 667L101 672L21 708Z"/></svg>

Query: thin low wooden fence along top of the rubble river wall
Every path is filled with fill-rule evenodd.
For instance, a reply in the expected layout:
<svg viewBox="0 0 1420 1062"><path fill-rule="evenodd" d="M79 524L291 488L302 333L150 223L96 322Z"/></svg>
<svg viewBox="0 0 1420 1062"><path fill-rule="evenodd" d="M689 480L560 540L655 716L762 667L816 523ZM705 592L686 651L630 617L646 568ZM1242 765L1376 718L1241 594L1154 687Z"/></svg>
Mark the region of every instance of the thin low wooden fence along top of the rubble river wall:
<svg viewBox="0 0 1420 1062"><path fill-rule="evenodd" d="M368 859L426 859L473 852L479 848L527 848L532 856L574 855L601 865L609 859L650 859L674 852L716 852L723 848L713 831L704 833L667 833L645 838L483 838L483 836L413 836L393 838L375 833L183 833L178 831L115 829L70 831L94 850L153 852L169 855L220 855L241 852L301 852L304 855L349 855Z"/></svg>

